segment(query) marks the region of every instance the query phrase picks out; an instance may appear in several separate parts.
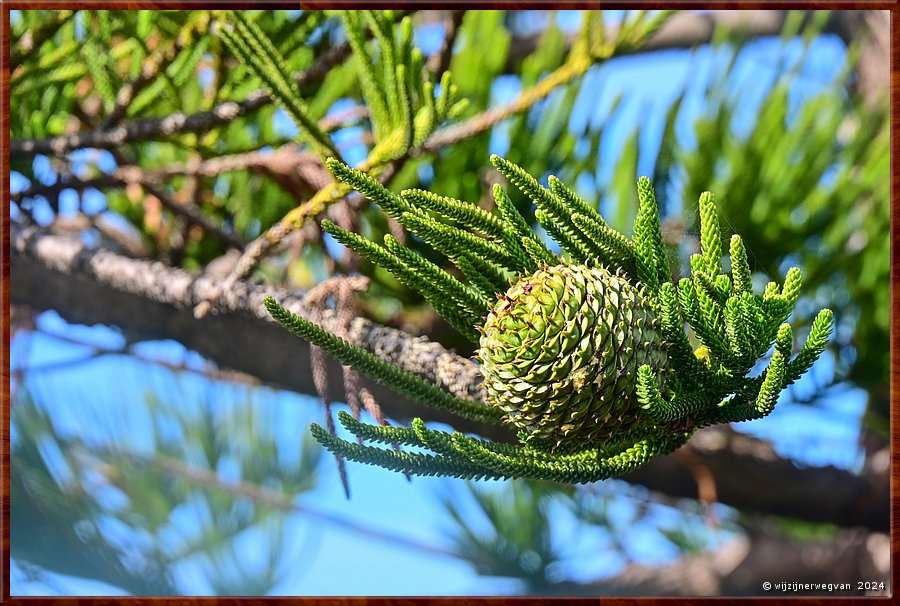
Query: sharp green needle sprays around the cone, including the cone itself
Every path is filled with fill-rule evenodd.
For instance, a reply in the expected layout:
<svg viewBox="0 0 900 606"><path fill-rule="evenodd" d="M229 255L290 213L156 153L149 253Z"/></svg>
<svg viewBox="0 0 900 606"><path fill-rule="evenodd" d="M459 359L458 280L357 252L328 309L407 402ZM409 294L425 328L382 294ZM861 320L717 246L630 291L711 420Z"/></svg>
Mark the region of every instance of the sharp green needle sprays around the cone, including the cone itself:
<svg viewBox="0 0 900 606"><path fill-rule="evenodd" d="M373 82L381 78L372 75ZM385 97L386 107L398 102ZM408 474L593 482L672 452L704 426L768 415L781 391L824 350L832 326L828 309L819 312L805 345L791 357L786 320L799 296L798 268L788 271L783 285L771 282L754 293L747 252L735 234L728 248L731 271L724 272L709 192L699 201L700 253L691 258L689 277L676 283L646 177L638 181L640 206L629 238L555 177L546 188L512 162L492 156L491 163L534 202L535 216L562 246L561 256L528 227L499 185L493 189L496 209L488 212L420 190L394 194L333 159L327 164L338 180L446 255L465 282L393 238L382 246L323 222L336 239L418 290L480 345L484 401L459 400L274 299L266 307L342 364L423 404L512 424L520 444L428 429L421 419L410 427L380 427L342 414L341 423L359 443L312 426L336 455ZM523 316L515 315L519 308ZM765 369L751 376L770 350Z"/></svg>

